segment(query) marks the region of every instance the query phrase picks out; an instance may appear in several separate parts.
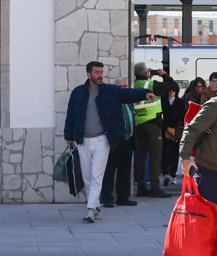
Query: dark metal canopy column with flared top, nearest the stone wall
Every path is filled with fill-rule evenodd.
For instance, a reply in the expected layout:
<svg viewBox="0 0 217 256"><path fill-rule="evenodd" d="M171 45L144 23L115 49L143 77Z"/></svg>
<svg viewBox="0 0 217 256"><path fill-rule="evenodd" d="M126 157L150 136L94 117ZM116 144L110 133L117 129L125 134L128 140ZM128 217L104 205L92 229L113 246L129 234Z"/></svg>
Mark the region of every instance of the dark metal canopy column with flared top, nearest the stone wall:
<svg viewBox="0 0 217 256"><path fill-rule="evenodd" d="M139 16L139 35L145 35L147 29L147 15L151 9L151 5L135 5L134 9ZM146 45L146 38L140 38L139 44Z"/></svg>

